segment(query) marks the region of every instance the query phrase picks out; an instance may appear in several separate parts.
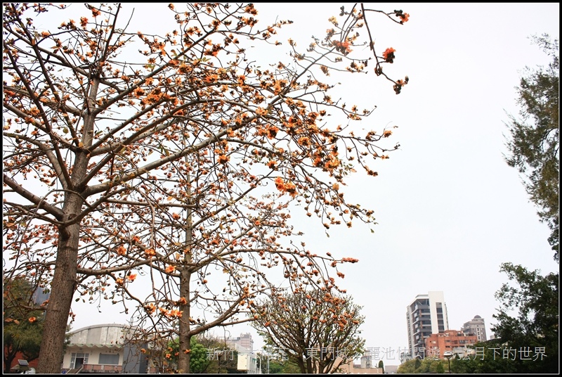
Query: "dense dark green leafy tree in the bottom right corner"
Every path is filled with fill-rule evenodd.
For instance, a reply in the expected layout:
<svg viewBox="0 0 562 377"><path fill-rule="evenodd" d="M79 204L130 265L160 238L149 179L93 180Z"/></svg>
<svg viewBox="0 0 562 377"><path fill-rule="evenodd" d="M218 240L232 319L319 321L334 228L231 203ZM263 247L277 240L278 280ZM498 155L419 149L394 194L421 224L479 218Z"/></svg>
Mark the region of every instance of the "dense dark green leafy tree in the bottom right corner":
<svg viewBox="0 0 562 377"><path fill-rule="evenodd" d="M496 293L501 303L492 331L499 343L515 350L530 350L530 359L517 358L511 364L516 373L558 373L558 273L541 276L520 265L504 263L510 283ZM516 311L516 317L511 312ZM546 357L535 357L544 347Z"/></svg>

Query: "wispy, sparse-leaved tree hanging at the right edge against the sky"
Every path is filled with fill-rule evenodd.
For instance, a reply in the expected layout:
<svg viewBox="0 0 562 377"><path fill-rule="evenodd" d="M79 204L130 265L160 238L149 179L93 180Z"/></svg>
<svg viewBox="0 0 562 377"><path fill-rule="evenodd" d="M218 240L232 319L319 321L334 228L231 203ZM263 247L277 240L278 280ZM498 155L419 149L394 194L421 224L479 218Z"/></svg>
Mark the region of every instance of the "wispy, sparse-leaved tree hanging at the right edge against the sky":
<svg viewBox="0 0 562 377"><path fill-rule="evenodd" d="M549 243L558 261L559 238L559 130L558 130L558 39L547 34L534 37L552 61L547 68L527 68L518 87L521 120L510 116L506 160L523 174L523 184L538 215L551 229Z"/></svg>

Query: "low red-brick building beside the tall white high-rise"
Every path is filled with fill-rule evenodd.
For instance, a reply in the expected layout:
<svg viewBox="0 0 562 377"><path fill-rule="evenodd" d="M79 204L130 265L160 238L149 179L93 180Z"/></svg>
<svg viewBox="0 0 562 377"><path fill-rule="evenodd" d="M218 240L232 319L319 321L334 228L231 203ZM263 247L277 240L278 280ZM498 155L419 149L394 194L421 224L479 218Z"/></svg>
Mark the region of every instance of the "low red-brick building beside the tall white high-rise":
<svg viewBox="0 0 562 377"><path fill-rule="evenodd" d="M443 359L443 352L450 351L464 357L471 351L467 348L477 342L476 335L457 330L445 330L431 334L425 340L425 357Z"/></svg>

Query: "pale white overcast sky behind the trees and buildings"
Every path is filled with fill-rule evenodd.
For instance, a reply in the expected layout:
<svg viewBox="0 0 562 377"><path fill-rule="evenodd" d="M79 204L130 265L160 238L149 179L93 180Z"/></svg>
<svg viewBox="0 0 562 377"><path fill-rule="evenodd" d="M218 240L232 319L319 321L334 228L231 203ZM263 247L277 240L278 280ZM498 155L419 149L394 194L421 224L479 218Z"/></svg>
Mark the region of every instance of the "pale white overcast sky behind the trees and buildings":
<svg viewBox="0 0 562 377"><path fill-rule="evenodd" d="M136 8L131 31L165 24L147 25L146 20L159 20L160 14L164 20L166 5L126 4ZM341 6L254 5L260 23L294 21L278 39L291 37L298 46L307 46L313 34L324 34L328 18ZM406 347L406 307L430 290L443 291L450 328L460 329L480 315L490 336L492 314L499 307L494 294L507 282L500 264L522 264L543 274L558 270L547 243L549 229L539 222L518 172L504 161L504 134L509 114L518 114L515 87L523 68L549 63L528 37L548 33L558 38L559 7L367 4L410 14L405 25L370 15L375 46L396 49L395 63L385 72L410 78L402 93L394 94L392 84L372 72L341 85L342 97L377 106L357 127L398 126L391 143L400 143L400 149L372 166L379 176L355 174L347 188L346 196L375 211L378 224L374 233L359 223L351 229L330 229L327 238L320 222L306 221L302 211L292 212L310 250L360 260L341 270L346 278L340 286L362 306L366 347ZM276 63L282 56L272 59ZM101 313L91 305L75 304L72 309L77 314L73 329L127 319L115 307L100 307ZM250 326L235 326L226 335L246 332L252 333L254 349L261 348L263 340ZM399 364L397 357L384 362Z"/></svg>

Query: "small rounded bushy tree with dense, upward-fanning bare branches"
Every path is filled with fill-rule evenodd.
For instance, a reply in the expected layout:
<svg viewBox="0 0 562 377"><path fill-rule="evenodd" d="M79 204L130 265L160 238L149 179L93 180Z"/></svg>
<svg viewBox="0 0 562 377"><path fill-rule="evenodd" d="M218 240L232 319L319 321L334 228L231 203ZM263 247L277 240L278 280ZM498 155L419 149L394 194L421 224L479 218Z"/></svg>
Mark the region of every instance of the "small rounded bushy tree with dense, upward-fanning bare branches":
<svg viewBox="0 0 562 377"><path fill-rule="evenodd" d="M252 326L266 345L299 365L301 373L332 373L363 354L360 307L326 290L278 293L266 302Z"/></svg>

